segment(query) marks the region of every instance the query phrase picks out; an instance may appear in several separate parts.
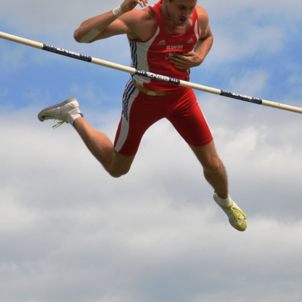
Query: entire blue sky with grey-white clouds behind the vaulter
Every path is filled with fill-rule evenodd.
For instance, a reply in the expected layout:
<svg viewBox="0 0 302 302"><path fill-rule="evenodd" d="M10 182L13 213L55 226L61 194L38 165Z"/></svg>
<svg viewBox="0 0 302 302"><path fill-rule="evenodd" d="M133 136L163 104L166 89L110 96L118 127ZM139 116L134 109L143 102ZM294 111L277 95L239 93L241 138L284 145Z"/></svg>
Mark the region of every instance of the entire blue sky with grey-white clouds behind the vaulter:
<svg viewBox="0 0 302 302"><path fill-rule="evenodd" d="M72 38L119 4L12 0L0 31L129 65L126 37ZM214 44L191 82L302 107L300 2L198 4ZM37 119L76 97L113 140L128 74L6 40L0 50L1 301L301 300L300 114L196 92L249 215L239 233L169 122L148 129L129 174L112 179L70 125Z"/></svg>

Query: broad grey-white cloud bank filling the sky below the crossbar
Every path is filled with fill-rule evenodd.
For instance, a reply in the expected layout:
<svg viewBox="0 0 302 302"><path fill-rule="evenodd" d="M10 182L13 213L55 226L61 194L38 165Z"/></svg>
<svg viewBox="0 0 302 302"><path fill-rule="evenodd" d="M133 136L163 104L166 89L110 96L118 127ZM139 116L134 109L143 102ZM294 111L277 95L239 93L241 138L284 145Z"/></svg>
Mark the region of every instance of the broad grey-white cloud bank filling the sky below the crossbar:
<svg viewBox="0 0 302 302"><path fill-rule="evenodd" d="M251 104L235 110L221 97L200 103L231 196L250 216L245 233L216 207L199 163L168 122L146 132L129 174L113 179L71 126L53 131L36 107L7 113L2 300L229 302L235 294L298 301L299 116ZM114 118L102 126L111 139Z"/></svg>

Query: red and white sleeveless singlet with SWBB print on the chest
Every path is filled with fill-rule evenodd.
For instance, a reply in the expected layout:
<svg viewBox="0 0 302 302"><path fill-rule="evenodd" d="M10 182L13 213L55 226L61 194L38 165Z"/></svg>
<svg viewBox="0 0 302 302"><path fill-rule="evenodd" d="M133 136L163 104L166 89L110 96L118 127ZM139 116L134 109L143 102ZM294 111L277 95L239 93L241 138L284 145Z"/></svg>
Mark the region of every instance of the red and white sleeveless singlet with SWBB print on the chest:
<svg viewBox="0 0 302 302"><path fill-rule="evenodd" d="M170 36L165 33L163 19L160 11L161 0L154 6L150 6L157 16L157 30L152 37L146 41L129 40L131 50L131 67L145 70L166 77L189 81L190 69L175 67L169 57L172 53L184 53L194 49L200 37L199 22L196 9L193 11L193 23L189 31L179 36ZM165 91L177 89L178 86L161 82L154 79L132 75L134 83L152 91Z"/></svg>

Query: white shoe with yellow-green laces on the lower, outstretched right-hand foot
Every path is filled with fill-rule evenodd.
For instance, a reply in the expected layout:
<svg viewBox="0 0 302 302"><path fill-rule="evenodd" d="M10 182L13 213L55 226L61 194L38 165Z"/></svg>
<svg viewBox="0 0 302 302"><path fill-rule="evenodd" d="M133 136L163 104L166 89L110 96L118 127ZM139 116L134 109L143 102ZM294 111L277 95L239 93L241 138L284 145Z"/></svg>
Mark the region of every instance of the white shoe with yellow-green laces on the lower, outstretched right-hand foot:
<svg viewBox="0 0 302 302"><path fill-rule="evenodd" d="M218 202L216 193L214 193L213 199L222 208L224 213L228 215L230 224L233 226L233 228L240 232L243 232L247 229L248 225L246 219L248 219L248 216L242 211L235 201L231 199L231 206L225 207Z"/></svg>

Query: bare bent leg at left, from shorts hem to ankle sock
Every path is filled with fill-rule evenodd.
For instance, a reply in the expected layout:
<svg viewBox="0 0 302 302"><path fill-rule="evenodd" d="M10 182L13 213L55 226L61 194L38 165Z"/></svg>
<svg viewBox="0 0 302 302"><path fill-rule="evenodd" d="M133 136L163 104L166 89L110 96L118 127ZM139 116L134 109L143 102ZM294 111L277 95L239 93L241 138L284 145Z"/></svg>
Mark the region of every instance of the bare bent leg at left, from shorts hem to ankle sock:
<svg viewBox="0 0 302 302"><path fill-rule="evenodd" d="M126 174L135 156L124 156L114 150L110 139L102 132L94 129L83 117L73 122L86 146L105 170L113 177Z"/></svg>

